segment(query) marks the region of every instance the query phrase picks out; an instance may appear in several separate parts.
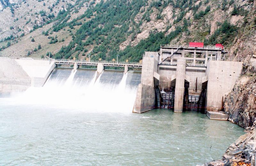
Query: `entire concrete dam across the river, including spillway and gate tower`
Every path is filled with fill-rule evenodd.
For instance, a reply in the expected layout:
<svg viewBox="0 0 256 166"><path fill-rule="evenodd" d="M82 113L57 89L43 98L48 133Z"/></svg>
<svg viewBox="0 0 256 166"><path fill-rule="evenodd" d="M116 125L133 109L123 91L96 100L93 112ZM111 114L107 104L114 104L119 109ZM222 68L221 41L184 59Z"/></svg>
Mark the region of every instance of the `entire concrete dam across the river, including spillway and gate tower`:
<svg viewBox="0 0 256 166"><path fill-rule="evenodd" d="M43 87L33 93L47 97L47 91L54 91L73 98L78 93L83 97L76 101L105 107L117 102L127 105L125 101L129 101L127 107L134 113L153 108L219 111L240 76L243 63L243 59L225 57L224 47L191 45L161 45L159 52L145 52L140 63L0 58L2 94ZM73 69L58 67L63 65L72 65ZM97 66L97 70L81 68L86 66ZM104 67L121 67L124 71ZM129 71L132 68L141 68L141 72ZM109 99L105 94L113 95Z"/></svg>

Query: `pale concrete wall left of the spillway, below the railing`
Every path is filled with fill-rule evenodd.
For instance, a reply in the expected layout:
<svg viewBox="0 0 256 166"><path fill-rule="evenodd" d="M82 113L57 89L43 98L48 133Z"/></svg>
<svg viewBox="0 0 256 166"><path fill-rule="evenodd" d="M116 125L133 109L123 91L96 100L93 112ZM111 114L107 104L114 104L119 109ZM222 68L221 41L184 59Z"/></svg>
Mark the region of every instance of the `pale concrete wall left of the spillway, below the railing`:
<svg viewBox="0 0 256 166"><path fill-rule="evenodd" d="M0 93L42 87L55 68L54 62L0 57Z"/></svg>

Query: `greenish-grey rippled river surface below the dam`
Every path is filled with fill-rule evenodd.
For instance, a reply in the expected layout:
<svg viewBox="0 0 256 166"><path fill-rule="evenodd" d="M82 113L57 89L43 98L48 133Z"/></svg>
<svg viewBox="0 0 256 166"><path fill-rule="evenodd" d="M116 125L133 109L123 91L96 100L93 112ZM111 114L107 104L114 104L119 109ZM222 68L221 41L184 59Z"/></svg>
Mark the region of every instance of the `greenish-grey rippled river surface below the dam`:
<svg viewBox="0 0 256 166"><path fill-rule="evenodd" d="M0 165L189 166L220 159L242 134L195 112L85 111L0 98Z"/></svg>

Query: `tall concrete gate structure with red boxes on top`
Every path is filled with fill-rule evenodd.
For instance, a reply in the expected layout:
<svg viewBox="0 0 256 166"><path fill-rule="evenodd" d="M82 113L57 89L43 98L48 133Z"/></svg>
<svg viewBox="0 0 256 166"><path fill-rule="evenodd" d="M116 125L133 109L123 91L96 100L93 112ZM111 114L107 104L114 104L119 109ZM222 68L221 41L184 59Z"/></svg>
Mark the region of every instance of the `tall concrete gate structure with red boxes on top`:
<svg viewBox="0 0 256 166"><path fill-rule="evenodd" d="M225 57L223 46L164 44L159 52L145 52L133 112L219 111L241 74L242 60Z"/></svg>

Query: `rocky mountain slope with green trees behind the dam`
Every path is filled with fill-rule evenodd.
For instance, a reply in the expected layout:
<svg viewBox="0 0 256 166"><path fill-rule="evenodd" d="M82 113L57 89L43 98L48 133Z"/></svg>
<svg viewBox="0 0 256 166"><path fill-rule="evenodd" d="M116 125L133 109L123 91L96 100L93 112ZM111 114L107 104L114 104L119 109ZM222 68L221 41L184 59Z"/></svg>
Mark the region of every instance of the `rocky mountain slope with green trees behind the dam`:
<svg viewBox="0 0 256 166"><path fill-rule="evenodd" d="M204 42L246 57L256 50L255 6L253 0L23 0L0 12L0 56L51 52L54 58L139 61L160 44Z"/></svg>

